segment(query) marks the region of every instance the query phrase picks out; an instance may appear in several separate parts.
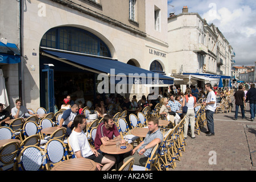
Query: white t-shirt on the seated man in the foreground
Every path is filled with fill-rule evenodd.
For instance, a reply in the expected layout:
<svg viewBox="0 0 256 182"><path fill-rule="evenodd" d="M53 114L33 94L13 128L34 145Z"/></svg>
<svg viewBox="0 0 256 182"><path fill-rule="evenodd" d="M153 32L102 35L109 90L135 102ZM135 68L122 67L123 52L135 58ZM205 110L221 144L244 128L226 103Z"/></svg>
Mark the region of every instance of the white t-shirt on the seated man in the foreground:
<svg viewBox="0 0 256 182"><path fill-rule="evenodd" d="M77 151L81 151L81 155L84 158L93 155L93 152L92 150L90 150L90 144L84 131L82 131L81 133L77 133L75 130L73 130L71 135L69 136L69 143L74 153Z"/></svg>

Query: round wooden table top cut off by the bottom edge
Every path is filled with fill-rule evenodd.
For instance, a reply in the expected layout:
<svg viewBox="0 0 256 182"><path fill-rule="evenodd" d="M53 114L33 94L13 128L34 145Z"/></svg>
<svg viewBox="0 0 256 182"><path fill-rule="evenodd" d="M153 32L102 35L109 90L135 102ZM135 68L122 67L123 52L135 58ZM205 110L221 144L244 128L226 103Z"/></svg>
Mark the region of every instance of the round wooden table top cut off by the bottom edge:
<svg viewBox="0 0 256 182"><path fill-rule="evenodd" d="M86 158L68 159L56 164L51 171L96 171L96 163Z"/></svg>

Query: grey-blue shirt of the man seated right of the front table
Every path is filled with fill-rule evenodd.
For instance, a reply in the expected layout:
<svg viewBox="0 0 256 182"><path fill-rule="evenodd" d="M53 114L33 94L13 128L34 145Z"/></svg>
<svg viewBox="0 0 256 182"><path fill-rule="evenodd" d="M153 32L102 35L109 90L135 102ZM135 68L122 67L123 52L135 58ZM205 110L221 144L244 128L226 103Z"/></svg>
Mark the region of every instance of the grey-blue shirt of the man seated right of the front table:
<svg viewBox="0 0 256 182"><path fill-rule="evenodd" d="M163 142L163 133L160 131L160 129L156 130L154 133L151 133L151 131L148 131L146 138L143 140L144 143L141 147L138 148L137 152L139 153L140 150L142 150L143 147L145 147L148 143L152 142L152 140L159 138L161 142ZM152 148L147 148L146 152L144 153L144 156L150 156Z"/></svg>

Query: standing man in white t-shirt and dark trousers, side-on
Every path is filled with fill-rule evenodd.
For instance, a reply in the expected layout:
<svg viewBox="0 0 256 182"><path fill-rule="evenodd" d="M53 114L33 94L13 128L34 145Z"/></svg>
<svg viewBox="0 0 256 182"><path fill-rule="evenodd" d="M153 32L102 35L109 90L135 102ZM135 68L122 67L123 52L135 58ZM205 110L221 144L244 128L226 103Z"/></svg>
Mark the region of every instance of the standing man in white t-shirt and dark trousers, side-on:
<svg viewBox="0 0 256 182"><path fill-rule="evenodd" d="M207 136L213 136L214 135L214 122L213 122L213 114L216 109L216 95L213 92L212 85L207 83L205 84L205 90L207 90L207 101L203 102L205 106L205 113L207 117Z"/></svg>

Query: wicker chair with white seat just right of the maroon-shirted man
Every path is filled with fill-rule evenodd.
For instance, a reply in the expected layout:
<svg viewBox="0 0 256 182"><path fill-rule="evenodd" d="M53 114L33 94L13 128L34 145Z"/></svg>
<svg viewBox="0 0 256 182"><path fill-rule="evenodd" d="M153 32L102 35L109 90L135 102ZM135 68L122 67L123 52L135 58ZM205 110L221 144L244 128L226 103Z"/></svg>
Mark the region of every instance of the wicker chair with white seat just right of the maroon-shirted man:
<svg viewBox="0 0 256 182"><path fill-rule="evenodd" d="M128 143L134 143L134 141L139 138L135 135L130 134L130 129L125 119L118 118L117 125L118 125L118 131L121 134L122 139L123 137L129 138Z"/></svg>

